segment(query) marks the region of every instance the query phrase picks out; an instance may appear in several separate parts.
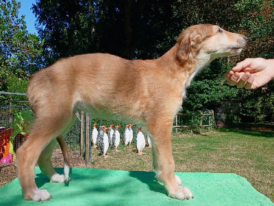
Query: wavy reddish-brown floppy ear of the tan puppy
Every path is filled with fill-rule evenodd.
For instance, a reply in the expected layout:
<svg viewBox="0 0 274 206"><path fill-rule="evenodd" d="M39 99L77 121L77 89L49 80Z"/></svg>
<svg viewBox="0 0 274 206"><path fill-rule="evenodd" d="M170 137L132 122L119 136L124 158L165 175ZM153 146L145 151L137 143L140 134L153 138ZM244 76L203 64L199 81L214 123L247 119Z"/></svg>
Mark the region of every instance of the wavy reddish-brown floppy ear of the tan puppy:
<svg viewBox="0 0 274 206"><path fill-rule="evenodd" d="M191 34L181 34L178 38L177 43L179 43L179 49L177 51L177 58L184 62L190 58L190 53L192 48L197 48L199 43L201 43L202 37L197 32Z"/></svg>

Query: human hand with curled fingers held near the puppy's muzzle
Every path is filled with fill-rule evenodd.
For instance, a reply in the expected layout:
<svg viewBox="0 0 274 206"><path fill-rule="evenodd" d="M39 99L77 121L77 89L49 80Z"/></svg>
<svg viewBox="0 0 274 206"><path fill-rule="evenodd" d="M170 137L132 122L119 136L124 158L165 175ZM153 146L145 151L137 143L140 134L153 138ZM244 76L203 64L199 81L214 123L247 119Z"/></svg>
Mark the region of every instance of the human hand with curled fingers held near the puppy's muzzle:
<svg viewBox="0 0 274 206"><path fill-rule="evenodd" d="M257 89L274 77L274 60L247 58L225 73L225 80L230 86Z"/></svg>

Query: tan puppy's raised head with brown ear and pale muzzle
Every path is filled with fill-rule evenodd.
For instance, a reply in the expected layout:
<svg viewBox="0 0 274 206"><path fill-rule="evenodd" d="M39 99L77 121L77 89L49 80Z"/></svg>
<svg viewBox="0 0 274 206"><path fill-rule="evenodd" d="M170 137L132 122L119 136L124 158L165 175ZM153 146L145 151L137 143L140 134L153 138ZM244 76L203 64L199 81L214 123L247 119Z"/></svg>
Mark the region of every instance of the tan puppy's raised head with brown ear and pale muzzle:
<svg viewBox="0 0 274 206"><path fill-rule="evenodd" d="M203 54L213 60L222 56L236 56L247 44L247 36L223 30L218 25L193 25L177 39L177 58L184 62Z"/></svg>

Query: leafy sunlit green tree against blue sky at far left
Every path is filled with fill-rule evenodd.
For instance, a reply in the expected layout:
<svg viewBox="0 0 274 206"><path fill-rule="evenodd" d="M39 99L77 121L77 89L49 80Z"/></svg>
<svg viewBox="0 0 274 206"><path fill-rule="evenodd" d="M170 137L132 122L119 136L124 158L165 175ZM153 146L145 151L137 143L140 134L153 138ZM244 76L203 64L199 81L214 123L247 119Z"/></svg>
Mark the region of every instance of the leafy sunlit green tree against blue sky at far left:
<svg viewBox="0 0 274 206"><path fill-rule="evenodd" d="M42 67L42 41L28 34L25 16L18 17L20 5L15 0L0 3L0 91L18 87L14 82L21 84L20 79ZM3 104L2 95L0 101Z"/></svg>

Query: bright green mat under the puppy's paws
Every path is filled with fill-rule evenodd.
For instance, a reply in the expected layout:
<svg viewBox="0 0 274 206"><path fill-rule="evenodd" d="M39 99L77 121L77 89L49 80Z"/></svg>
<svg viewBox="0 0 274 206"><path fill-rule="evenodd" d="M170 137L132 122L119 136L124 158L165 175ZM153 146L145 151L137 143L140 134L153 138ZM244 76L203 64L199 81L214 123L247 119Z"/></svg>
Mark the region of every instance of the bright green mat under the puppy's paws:
<svg viewBox="0 0 274 206"><path fill-rule="evenodd" d="M62 168L56 168L62 174ZM179 201L166 196L154 172L127 172L71 168L71 182L49 183L35 169L36 183L53 197L36 203L24 201L18 179L0 188L0 205L274 205L236 174L176 173L195 198Z"/></svg>

